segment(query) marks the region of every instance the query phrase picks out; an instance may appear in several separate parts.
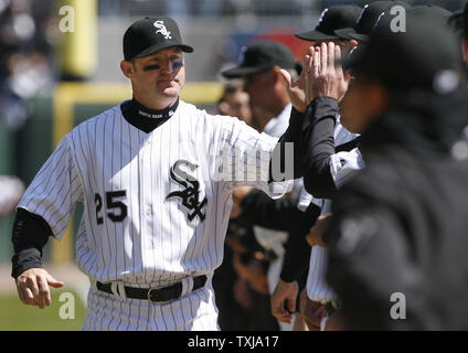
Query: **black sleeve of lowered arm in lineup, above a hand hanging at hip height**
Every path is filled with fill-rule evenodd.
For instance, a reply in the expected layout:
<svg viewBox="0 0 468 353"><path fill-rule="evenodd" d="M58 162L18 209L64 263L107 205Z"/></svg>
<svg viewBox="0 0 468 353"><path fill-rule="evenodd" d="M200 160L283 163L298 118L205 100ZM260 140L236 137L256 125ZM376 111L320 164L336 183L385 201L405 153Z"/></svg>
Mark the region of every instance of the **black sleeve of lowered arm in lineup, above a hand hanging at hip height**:
<svg viewBox="0 0 468 353"><path fill-rule="evenodd" d="M286 254L283 263L283 270L279 278L286 282L292 282L304 274L309 266L311 247L306 240L310 227L320 215L320 207L311 203L301 213L301 217L296 228L289 234L286 243Z"/></svg>

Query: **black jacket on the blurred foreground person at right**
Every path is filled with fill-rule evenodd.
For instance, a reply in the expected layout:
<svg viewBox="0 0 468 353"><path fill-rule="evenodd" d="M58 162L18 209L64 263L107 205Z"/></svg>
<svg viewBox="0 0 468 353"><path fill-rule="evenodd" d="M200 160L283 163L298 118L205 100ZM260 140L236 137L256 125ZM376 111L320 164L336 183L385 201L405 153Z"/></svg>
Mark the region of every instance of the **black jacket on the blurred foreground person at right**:
<svg viewBox="0 0 468 353"><path fill-rule="evenodd" d="M325 238L349 329L468 329L464 99L390 111L363 133L366 168L333 200ZM392 319L392 308L405 319Z"/></svg>

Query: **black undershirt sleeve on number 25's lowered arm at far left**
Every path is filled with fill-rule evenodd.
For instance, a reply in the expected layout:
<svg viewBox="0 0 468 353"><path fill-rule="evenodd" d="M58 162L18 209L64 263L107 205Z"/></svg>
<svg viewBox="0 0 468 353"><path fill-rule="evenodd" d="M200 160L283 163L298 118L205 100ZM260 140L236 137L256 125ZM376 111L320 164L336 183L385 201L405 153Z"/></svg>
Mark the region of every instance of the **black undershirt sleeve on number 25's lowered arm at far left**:
<svg viewBox="0 0 468 353"><path fill-rule="evenodd" d="M13 223L12 243L14 255L11 258L11 276L17 278L30 268L42 267L42 249L52 229L41 216L18 208Z"/></svg>

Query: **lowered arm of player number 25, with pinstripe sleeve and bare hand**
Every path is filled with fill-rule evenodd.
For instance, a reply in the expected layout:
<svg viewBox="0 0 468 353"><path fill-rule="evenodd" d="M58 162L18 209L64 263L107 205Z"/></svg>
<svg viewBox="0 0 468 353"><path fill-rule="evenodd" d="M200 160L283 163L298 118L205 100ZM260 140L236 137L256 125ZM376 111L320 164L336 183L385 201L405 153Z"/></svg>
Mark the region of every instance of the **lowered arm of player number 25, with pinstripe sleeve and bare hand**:
<svg viewBox="0 0 468 353"><path fill-rule="evenodd" d="M29 185L13 225L12 277L17 280L18 295L25 304L40 308L51 302L49 286L63 286L41 268L42 249L49 236L56 239L63 236L83 192L68 138L73 137L67 135L62 139Z"/></svg>

